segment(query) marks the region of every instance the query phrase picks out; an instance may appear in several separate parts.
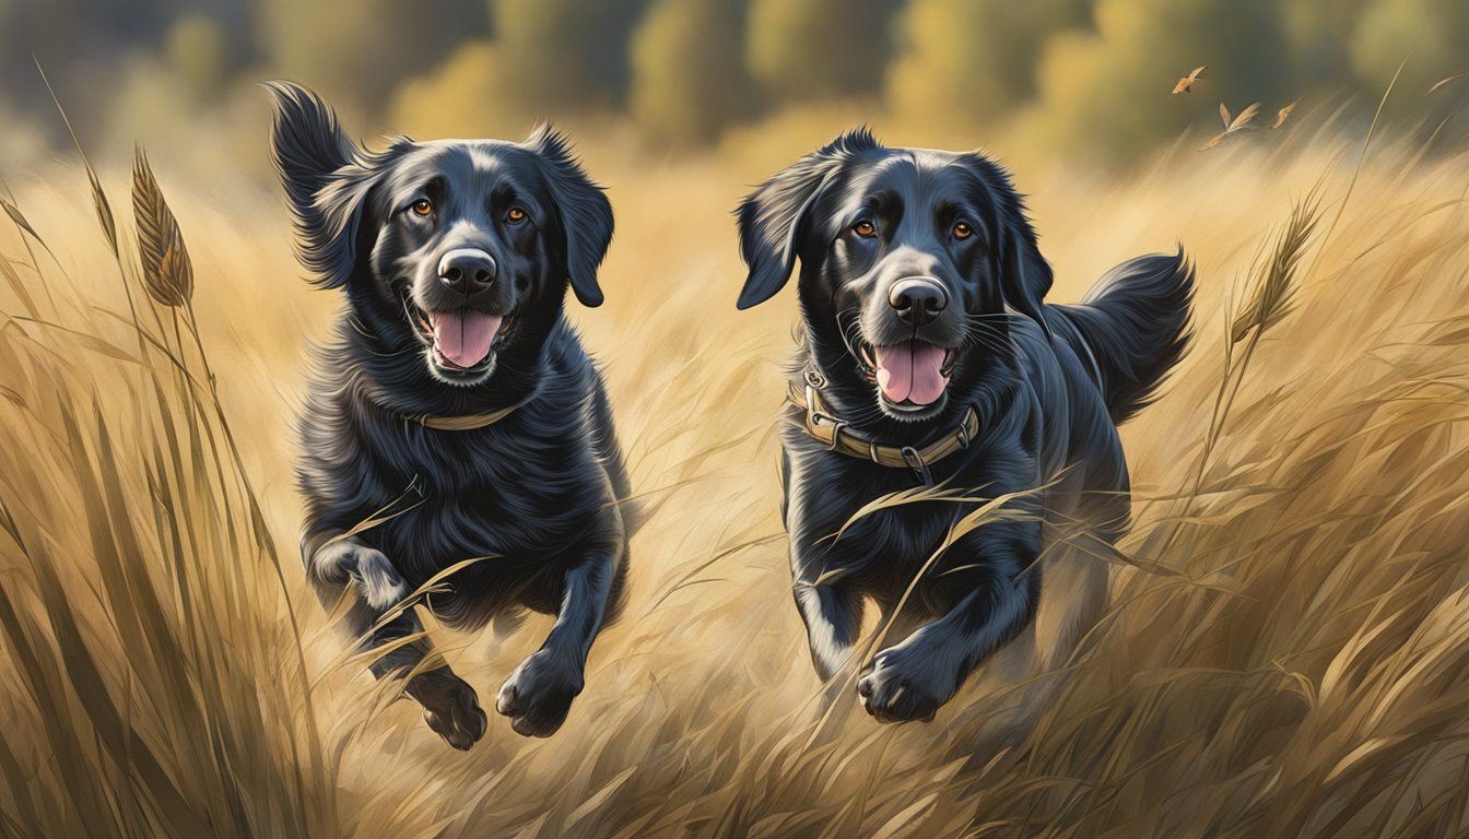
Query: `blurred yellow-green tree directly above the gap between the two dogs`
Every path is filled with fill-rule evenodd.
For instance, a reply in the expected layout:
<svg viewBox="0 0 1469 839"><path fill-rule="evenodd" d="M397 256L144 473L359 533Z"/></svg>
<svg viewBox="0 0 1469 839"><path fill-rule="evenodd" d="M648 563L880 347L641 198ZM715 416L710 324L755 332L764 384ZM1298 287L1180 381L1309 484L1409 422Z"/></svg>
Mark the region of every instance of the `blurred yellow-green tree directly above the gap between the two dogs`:
<svg viewBox="0 0 1469 839"><path fill-rule="evenodd" d="M633 34L632 113L651 141L710 143L746 113L737 0L658 0Z"/></svg>

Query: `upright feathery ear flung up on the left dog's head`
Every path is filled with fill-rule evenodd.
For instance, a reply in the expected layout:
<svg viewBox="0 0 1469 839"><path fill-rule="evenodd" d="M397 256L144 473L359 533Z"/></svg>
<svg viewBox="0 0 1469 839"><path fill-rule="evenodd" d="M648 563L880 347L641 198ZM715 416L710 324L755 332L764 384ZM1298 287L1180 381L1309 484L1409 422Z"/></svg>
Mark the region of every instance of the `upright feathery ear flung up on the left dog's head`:
<svg viewBox="0 0 1469 839"><path fill-rule="evenodd" d="M357 263L357 234L372 159L344 135L322 97L294 82L266 82L275 116L270 159L295 220L297 259L320 288L341 288Z"/></svg>

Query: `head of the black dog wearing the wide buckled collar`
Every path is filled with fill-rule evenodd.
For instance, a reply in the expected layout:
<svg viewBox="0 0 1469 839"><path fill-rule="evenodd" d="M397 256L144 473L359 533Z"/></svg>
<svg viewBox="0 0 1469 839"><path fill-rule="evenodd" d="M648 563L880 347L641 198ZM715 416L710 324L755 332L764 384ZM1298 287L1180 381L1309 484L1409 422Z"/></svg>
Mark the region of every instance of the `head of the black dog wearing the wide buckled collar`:
<svg viewBox="0 0 1469 839"><path fill-rule="evenodd" d="M978 153L887 148L848 132L737 215L749 266L739 307L773 297L799 260L812 339L852 361L823 364L864 379L895 420L943 411L952 384L1006 353L1014 316L1046 332L1050 266L1009 175Z"/></svg>

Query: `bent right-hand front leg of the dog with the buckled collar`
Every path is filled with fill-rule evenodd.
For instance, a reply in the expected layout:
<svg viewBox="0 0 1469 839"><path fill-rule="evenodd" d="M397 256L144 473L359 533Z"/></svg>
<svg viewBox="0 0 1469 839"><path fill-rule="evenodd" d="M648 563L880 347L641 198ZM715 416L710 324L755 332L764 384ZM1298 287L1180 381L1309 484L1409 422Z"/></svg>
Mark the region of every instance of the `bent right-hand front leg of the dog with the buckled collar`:
<svg viewBox="0 0 1469 839"><path fill-rule="evenodd" d="M856 683L862 707L880 723L933 720L964 679L1034 617L1040 576L989 573L934 622L873 657Z"/></svg>

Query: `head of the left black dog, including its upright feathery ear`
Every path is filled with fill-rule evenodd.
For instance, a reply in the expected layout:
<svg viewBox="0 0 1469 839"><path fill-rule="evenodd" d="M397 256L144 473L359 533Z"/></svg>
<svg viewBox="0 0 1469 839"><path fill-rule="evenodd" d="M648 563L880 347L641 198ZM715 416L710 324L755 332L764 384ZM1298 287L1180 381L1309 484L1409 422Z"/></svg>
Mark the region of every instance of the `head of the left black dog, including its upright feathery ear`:
<svg viewBox="0 0 1469 839"><path fill-rule="evenodd" d="M411 351L435 382L479 385L501 357L538 357L569 284L602 303L613 210L560 134L400 138L370 153L316 94L267 90L301 263L317 285L347 289L379 351Z"/></svg>

